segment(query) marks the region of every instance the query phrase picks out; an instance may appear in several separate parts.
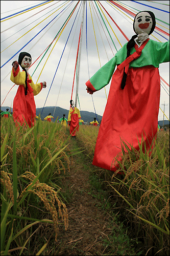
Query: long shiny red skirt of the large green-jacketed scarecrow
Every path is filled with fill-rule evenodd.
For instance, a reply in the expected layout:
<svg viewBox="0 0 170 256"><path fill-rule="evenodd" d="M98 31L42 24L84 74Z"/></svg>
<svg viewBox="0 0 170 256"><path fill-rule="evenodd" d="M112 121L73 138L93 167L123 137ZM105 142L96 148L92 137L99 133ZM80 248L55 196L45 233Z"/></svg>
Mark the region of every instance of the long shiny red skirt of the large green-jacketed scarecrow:
<svg viewBox="0 0 170 256"><path fill-rule="evenodd" d="M139 150L138 140L141 143L143 137L149 149L158 127L158 68L129 68L124 90L120 88L123 72L117 69L113 74L93 158L93 165L114 172L118 166L115 157L119 154L118 160L122 159L121 140Z"/></svg>

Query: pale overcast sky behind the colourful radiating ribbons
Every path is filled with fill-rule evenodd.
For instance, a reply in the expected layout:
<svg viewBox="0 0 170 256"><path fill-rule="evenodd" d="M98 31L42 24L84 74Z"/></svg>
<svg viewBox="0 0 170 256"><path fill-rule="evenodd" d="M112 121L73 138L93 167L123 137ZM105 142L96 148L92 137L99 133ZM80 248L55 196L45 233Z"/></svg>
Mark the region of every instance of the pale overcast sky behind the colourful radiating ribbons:
<svg viewBox="0 0 170 256"><path fill-rule="evenodd" d="M83 1L80 1L80 3L81 2ZM89 2L90 2L90 7L89 7ZM129 9L135 14L139 11L150 10L154 12L156 18L163 20L165 23L169 24L169 13L158 10L158 9L162 9L162 10L169 11L169 6L164 5L164 4L169 5L169 1L159 0L159 1L135 1L135 2L134 1L115 1L115 2L124 6L125 8ZM158 2L160 2L161 4L158 4ZM17 13L29 7L38 5L40 3L43 3L43 1L1 1L1 19L13 13ZM31 54L32 63L33 63L43 53L43 51L48 47L48 45L50 45L50 43L53 41L54 37L57 35L62 25L64 24L65 20L67 19L68 15L72 11L72 9L76 6L77 3L78 1L50 1L49 3L43 5L42 7L38 7L34 10L27 11L26 13L23 13L20 15L16 14L17 15L16 17L12 17L12 18L8 17L7 20L5 20L4 22L2 22L3 19L1 20L1 67L4 65L4 63L6 63L13 55L15 55L19 51L14 57L11 58L11 60L9 60L6 63L6 65L4 65L4 67L1 68L1 105L7 93L14 85L14 83L10 80L12 62L14 60L18 60L18 56L20 52L25 51ZM80 3L76 8L76 11L70 18L65 29L63 30L63 33L59 37L56 45L55 45L55 42L56 42L55 40L52 46L50 47L50 49L47 51L44 58L42 59L38 68L37 68L37 65L44 53L29 69L29 74L32 76L33 72L37 68L34 75L32 76L34 83L37 82L37 79L42 71L38 79L38 82L46 81L46 84L47 84L46 89L42 89L42 91L37 96L34 97L36 108L42 108L44 106L44 103L45 103L45 106L55 106L57 103L57 106L60 106L61 108L69 110L69 101L71 98L72 84L74 81L74 72L75 72L75 63L76 63L76 55L77 55L77 48L78 48L78 41L79 41L80 26L82 22L82 5L80 6ZM115 44L114 46L94 1L92 1L92 3L91 1L86 1L86 3L87 3L88 62L87 62L87 53L86 53L86 4L85 4L84 23L83 23L83 31L82 31L82 44L81 44L79 91L78 91L80 106L79 104L77 104L77 107L80 110L94 112L94 107L93 107L93 102L94 102L96 113L99 115L103 115L106 102L107 102L106 94L108 96L110 83L105 87L106 94L105 94L105 89L102 89L93 94L92 96L93 102L92 102L91 95L87 94L87 91L85 90L86 89L85 82L96 71L98 71L100 67L105 65L105 63L108 62L114 56L114 54L116 53L116 49L119 50L124 44L126 44L127 40L122 35L122 33L120 33L120 31L114 25L114 23L112 22L110 17L106 14L106 12L102 9L105 16L103 15L99 5L98 8L101 11L105 24L108 28L108 31L114 41L114 44ZM106 1L101 1L101 3L106 8L106 10L111 15L111 17L114 19L115 23L120 27L120 29L123 30L123 32L130 39L132 35L135 34L133 31L134 18L129 14L125 13L124 11L122 11L121 9L109 4ZM144 6L141 4L150 5L158 9L153 9L151 7ZM93 6L95 7L95 9L93 8ZM64 8L65 10L62 11ZM91 8L91 12L90 12L90 8ZM48 17L49 15L51 16ZM91 18L91 15L92 15L92 18ZM33 16L33 17L30 17L30 16ZM55 16L57 17L55 18ZM75 20L76 16L77 18ZM42 22L43 19L45 20ZM51 22L52 19L54 20ZM107 20L112 29L110 28ZM167 33L169 33L169 26L166 25L165 23L162 23L160 20L156 20L156 26L166 31ZM38 23L40 24L36 26ZM48 23L50 24L46 26ZM95 33L93 31L93 25L94 25ZM36 27L32 29L34 26ZM43 30L40 32L41 29ZM156 32L158 32L160 35ZM39 34L33 40L31 40L37 33ZM21 38L17 40L19 37ZM155 30L152 33L152 35L150 35L150 38L156 41L161 41L161 42L166 42L167 39L169 39L167 35L157 30ZM31 42L29 42L30 40ZM23 49L21 49L28 42L29 44ZM98 47L96 46L96 42ZM45 61L46 61L46 64L45 64ZM159 72L160 72L160 76L169 84L169 62L161 63L159 67ZM162 83L162 85L165 85L165 83ZM3 103L3 106L13 107L13 99L15 97L17 89L18 89L18 86L15 85L13 89L10 91L10 93L8 94L6 100ZM169 93L169 87L166 86L164 89L166 91L168 90L167 92ZM164 104L164 102L165 104L167 104L165 105L165 114L169 119L169 96L164 89L161 87L160 108L163 110L164 106L162 104ZM47 100L46 100L46 97L47 97ZM75 101L75 97L76 97L76 78L74 82L74 91L72 94L72 99L74 101ZM159 111L158 120L162 120L162 119L163 119L163 113Z"/></svg>

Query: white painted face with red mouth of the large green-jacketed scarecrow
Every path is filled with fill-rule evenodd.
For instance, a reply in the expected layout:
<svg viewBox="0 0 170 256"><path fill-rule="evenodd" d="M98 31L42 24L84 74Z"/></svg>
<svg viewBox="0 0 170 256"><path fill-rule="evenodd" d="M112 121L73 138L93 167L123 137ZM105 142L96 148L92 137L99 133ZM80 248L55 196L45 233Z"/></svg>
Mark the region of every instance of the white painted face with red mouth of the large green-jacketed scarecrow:
<svg viewBox="0 0 170 256"><path fill-rule="evenodd" d="M153 20L148 12L140 12L137 14L134 20L135 33L147 33L149 34L153 25Z"/></svg>

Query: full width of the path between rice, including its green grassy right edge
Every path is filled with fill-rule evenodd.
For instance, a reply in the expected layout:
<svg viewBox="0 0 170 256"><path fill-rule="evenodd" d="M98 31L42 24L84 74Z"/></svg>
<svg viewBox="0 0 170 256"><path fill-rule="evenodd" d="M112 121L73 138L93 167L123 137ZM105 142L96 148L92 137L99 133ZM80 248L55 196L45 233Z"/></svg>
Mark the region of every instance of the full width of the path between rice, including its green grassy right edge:
<svg viewBox="0 0 170 256"><path fill-rule="evenodd" d="M70 149L80 148L77 139L70 140ZM62 180L62 192L67 197L68 229L59 227L58 242L51 255L136 255L140 249L129 238L123 221L116 217L114 203L120 198L112 194L109 205L111 191L108 194L96 178L98 167L92 165L85 152L73 158L69 176Z"/></svg>

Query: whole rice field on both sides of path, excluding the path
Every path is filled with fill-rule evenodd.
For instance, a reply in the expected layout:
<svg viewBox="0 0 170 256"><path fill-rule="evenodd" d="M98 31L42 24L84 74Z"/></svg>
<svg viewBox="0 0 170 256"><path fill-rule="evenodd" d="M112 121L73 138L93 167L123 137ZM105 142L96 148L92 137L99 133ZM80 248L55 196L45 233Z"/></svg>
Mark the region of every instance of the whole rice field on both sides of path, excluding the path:
<svg viewBox="0 0 170 256"><path fill-rule="evenodd" d="M38 119L31 129L17 131L12 118L1 118L1 255L29 255L29 241L40 227L51 226L56 241L59 226L67 230L60 180L69 175L72 157L80 151L92 162L98 131L99 126L81 125L76 139L81 148L70 151L69 131L57 120ZM169 132L158 133L151 155L141 147L139 152L127 147L127 152L119 163L124 176L98 167L95 172L117 198L116 211L129 223L132 237L141 239L145 255L167 255ZM36 255L47 255L48 242Z"/></svg>

